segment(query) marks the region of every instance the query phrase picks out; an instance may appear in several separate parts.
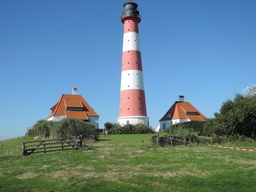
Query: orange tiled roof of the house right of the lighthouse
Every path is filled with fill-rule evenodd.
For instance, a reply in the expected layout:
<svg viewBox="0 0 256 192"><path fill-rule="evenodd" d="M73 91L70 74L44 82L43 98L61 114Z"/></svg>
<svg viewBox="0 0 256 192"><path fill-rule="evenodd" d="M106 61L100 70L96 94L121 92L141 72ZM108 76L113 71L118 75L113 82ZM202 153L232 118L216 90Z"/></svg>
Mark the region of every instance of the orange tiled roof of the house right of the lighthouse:
<svg viewBox="0 0 256 192"><path fill-rule="evenodd" d="M198 113L198 115L188 115L187 112ZM168 114L170 114L170 116L168 116ZM176 101L159 121L173 119L189 119L191 121L203 121L207 120L208 118L200 113L200 111L198 111L191 103Z"/></svg>

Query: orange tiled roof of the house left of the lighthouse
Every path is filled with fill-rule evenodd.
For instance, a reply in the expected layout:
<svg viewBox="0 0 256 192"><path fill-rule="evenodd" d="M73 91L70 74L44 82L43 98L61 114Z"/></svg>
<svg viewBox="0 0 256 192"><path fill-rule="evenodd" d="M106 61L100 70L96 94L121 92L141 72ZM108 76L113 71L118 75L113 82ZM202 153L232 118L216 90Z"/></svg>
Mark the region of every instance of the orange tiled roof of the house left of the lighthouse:
<svg viewBox="0 0 256 192"><path fill-rule="evenodd" d="M67 107L84 108L84 111L67 111ZM48 116L67 116L88 120L88 116L99 116L93 108L86 102L82 95L61 95L60 100L51 108L52 113Z"/></svg>

